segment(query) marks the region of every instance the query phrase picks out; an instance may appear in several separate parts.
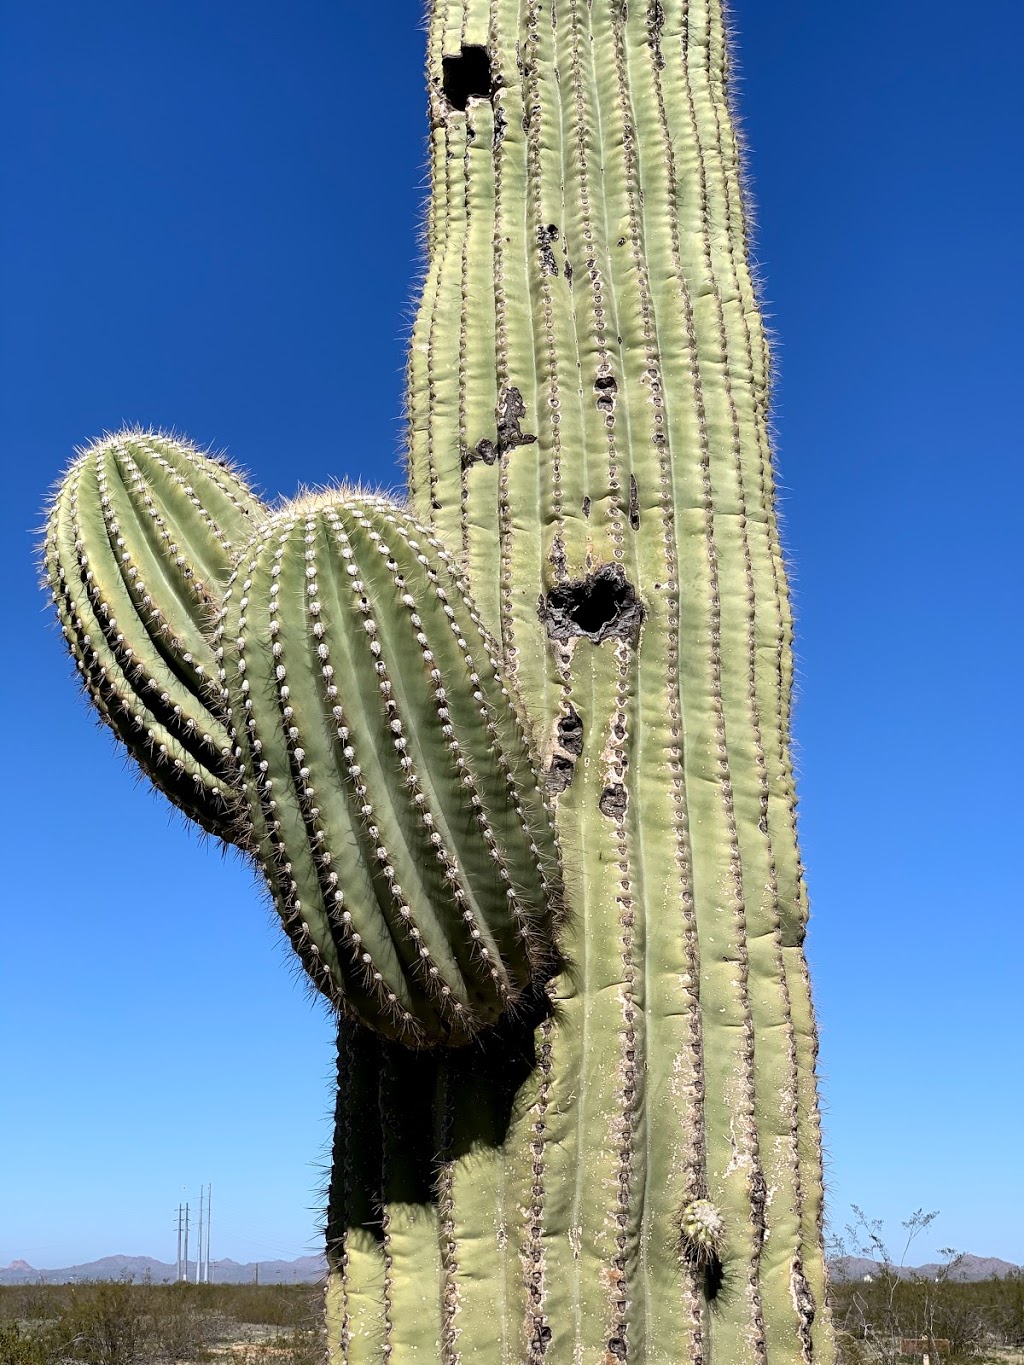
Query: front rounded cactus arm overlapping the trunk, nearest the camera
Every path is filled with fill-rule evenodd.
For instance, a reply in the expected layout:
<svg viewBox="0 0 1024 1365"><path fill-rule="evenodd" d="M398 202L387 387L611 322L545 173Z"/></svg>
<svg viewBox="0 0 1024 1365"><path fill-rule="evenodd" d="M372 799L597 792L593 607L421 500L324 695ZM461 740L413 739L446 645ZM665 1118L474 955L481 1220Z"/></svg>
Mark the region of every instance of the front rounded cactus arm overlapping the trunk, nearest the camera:
<svg viewBox="0 0 1024 1365"><path fill-rule="evenodd" d="M242 557L218 640L259 857L317 986L412 1047L515 1010L553 971L557 848L438 542L382 498L300 500Z"/></svg>

